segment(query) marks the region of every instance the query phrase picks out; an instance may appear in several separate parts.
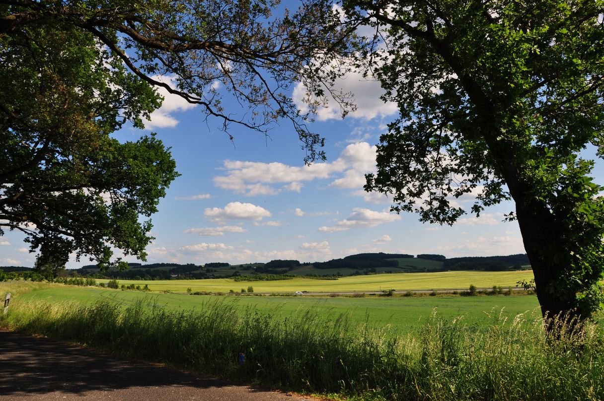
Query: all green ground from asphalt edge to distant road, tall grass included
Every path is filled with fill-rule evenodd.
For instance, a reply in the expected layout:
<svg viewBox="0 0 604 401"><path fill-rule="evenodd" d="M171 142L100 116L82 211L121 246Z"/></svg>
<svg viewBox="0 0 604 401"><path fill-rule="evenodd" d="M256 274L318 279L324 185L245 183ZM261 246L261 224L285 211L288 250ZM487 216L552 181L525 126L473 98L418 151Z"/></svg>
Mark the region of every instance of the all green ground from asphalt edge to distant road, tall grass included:
<svg viewBox="0 0 604 401"><path fill-rule="evenodd" d="M7 290L14 300L2 327L283 390L347 400L604 399L601 327L570 333L562 321L550 338L539 314L483 313L502 303L522 310L534 296L317 300L0 283ZM464 318L445 318L447 307ZM413 316L410 330L387 324L399 315ZM472 323L475 315L483 320Z"/></svg>

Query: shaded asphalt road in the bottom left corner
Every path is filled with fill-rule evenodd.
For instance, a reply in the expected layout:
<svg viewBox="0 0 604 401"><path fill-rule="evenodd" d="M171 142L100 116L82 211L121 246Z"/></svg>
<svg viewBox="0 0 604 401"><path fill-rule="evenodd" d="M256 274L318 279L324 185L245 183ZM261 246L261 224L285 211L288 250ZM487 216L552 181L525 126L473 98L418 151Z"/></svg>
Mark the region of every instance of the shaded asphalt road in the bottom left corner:
<svg viewBox="0 0 604 401"><path fill-rule="evenodd" d="M0 330L0 400L300 401Z"/></svg>

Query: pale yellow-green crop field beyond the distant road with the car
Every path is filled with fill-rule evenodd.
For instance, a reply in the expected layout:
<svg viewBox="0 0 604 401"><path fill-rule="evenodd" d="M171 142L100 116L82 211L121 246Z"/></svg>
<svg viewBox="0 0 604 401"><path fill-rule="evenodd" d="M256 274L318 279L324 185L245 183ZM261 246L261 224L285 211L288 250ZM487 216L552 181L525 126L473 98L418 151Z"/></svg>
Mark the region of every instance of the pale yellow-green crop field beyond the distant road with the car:
<svg viewBox="0 0 604 401"><path fill-rule="evenodd" d="M120 284L147 284L152 292L229 292L254 287L254 292L285 293L295 291L336 292L336 291L379 291L387 289L446 289L467 288L470 284L477 287L514 287L519 280L529 281L533 271L483 272L456 271L437 273L394 273L341 277L338 280L316 280L312 278L292 278L277 281L234 281L232 278L214 278L206 280L118 280ZM108 280L104 280L107 282ZM103 280L98 280L103 282Z"/></svg>

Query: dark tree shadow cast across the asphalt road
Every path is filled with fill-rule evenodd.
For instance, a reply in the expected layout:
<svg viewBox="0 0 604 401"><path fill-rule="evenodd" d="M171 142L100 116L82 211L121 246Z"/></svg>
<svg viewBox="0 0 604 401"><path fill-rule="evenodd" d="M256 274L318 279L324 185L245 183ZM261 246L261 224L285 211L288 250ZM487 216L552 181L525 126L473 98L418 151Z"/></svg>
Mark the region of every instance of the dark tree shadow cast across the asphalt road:
<svg viewBox="0 0 604 401"><path fill-rule="evenodd" d="M0 396L131 387L231 385L172 368L124 361L46 338L0 330Z"/></svg>

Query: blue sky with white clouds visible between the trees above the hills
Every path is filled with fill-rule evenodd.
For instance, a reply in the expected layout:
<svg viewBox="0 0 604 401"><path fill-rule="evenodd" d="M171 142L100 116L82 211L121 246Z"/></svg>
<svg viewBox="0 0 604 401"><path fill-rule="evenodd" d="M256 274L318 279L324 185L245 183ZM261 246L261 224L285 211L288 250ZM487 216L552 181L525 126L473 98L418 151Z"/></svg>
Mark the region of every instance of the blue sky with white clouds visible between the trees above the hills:
<svg viewBox="0 0 604 401"><path fill-rule="evenodd" d="M309 128L326 138L327 161L310 166L304 165L305 153L288 122L281 121L268 138L232 126L230 141L218 129L220 121L204 121L198 107L165 93L146 130L125 127L115 133L126 141L156 132L172 147L181 173L152 217L156 239L147 247L148 262L324 261L358 252L524 253L518 225L502 221L514 210L511 203L440 226L420 223L414 214L390 213L387 197L365 193L364 174L375 169L374 145L396 117L396 107L379 99L378 83L358 74L339 84L355 94L357 109L344 120L338 109L320 109ZM301 86L294 87L294 99L303 94ZM228 97L223 105L227 112L242 112ZM601 183L601 169L595 173ZM468 209L473 201L470 195L455 200ZM33 266L34 260L20 233L0 237L0 265ZM72 258L68 268L89 263Z"/></svg>

